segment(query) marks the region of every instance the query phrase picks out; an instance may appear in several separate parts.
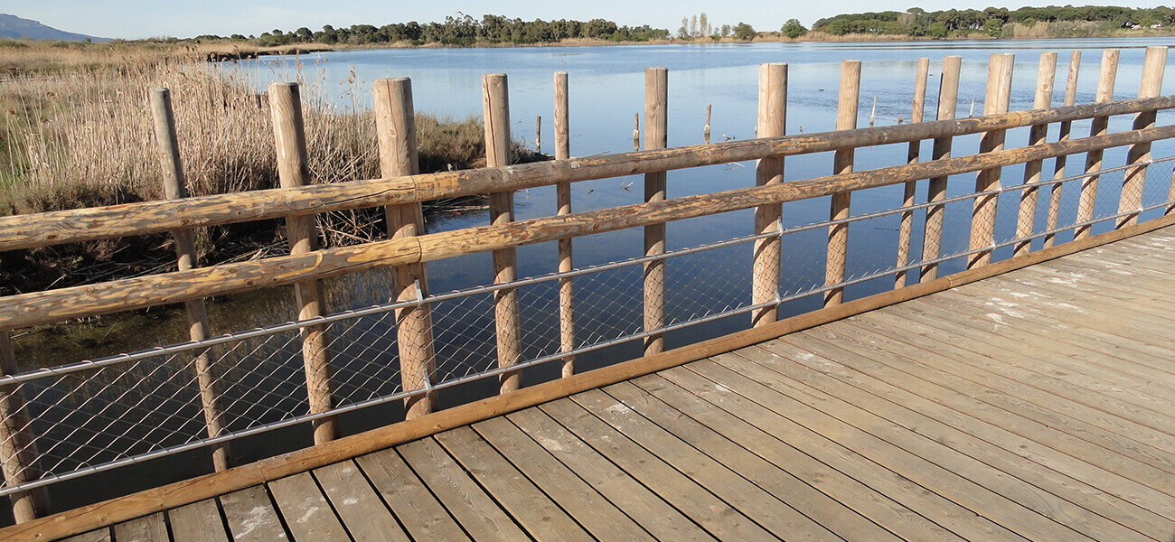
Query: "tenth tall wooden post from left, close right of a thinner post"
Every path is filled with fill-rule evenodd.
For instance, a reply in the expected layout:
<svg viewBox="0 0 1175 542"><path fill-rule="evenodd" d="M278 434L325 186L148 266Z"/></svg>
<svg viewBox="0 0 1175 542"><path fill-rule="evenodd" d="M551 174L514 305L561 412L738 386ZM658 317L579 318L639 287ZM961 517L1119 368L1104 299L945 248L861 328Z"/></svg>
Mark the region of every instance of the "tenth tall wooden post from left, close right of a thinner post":
<svg viewBox="0 0 1175 542"><path fill-rule="evenodd" d="M955 117L955 109L959 106L959 70L962 67L962 56L952 55L942 57L942 74L939 79L939 111L935 120L948 121ZM944 160L951 157L952 137L935 137L934 149L931 160ZM926 202L941 202L947 197L947 178L934 177L929 179L926 189ZM940 203L926 208L926 231L922 232L922 262L938 259L942 251L942 228L946 218L946 204ZM918 282L925 283L939 278L939 264L926 264Z"/></svg>

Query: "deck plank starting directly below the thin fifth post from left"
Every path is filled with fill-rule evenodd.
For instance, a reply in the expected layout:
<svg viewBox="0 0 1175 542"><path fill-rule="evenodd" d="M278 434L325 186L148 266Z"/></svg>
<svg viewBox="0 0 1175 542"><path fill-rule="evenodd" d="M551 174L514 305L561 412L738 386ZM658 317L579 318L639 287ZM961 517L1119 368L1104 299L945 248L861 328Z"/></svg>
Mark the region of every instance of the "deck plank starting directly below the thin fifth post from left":
<svg viewBox="0 0 1175 542"><path fill-rule="evenodd" d="M719 540L779 540L573 401L560 399L538 408Z"/></svg>

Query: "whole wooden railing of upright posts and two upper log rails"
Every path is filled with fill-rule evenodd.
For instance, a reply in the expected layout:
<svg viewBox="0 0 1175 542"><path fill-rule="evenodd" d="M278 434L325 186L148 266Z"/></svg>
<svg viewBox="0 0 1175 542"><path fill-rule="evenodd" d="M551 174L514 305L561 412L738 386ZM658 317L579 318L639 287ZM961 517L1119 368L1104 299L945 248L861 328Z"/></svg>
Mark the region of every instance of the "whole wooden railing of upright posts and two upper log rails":
<svg viewBox="0 0 1175 542"><path fill-rule="evenodd" d="M425 265L464 255L492 253L496 352L498 368L489 371L501 380L501 392L511 393L524 382L518 368L524 366L521 348L519 307L517 287L518 246L558 242L559 273L559 354L563 375L573 373L576 344L576 312L572 296L571 239L580 236L644 228L644 330L632 340L644 340L645 355L665 350L664 336L669 326L665 317L665 224L673 221L716 214L754 209L753 287L745 312L751 312L752 324L763 326L778 318L783 303L779 277L781 237L792 230L781 229L781 205L787 202L831 196L830 221L806 229L827 228L827 265L825 284L813 290L824 293L826 306L844 300L848 284L872 277L848 277L846 262L848 225L868 218L851 214L854 191L904 184L904 198L894 202L892 214L900 216L901 232L894 266L880 275L892 275L895 287L904 287L909 271L920 270L922 282L938 276L945 259L965 257L968 269L987 265L996 246L1014 245L1016 255L1030 249L1030 240L1045 237L1054 240L1061 202L1061 185L1069 177L1065 174L1065 157L1086 154L1081 177L1081 208L1070 229L1077 237L1088 235L1093 223L1113 219L1116 226L1136 222L1143 209L1142 179L1150 163L1150 143L1175 137L1175 127L1157 127L1155 114L1175 108L1175 96L1159 96L1166 66L1166 48L1147 50L1140 97L1113 101L1110 93L1116 70L1115 50L1108 50L1102 62L1097 102L1074 104L1079 56L1069 69L1066 106L1048 107L1055 69L1055 53L1041 57L1036 84L1036 109L1007 113L1010 97L1012 55L993 55L985 115L954 118L960 60L944 59L939 93L938 118L921 120L925 104L926 73L929 62L919 62L915 81L913 123L875 128L855 128L860 63L846 61L841 75L840 107L837 131L821 134L784 135L786 115L786 65L764 65L759 82L759 122L757 140L733 141L694 147L666 148L667 140L667 75L664 68L646 72L645 150L582 158L570 158L568 142L568 76L556 74L556 158L552 162L509 164L510 144L509 104L505 75L494 74L483 79L485 141L488 167L470 171L419 174L416 163L416 143L412 122L411 88L408 80L381 80L375 83L375 117L378 127L381 178L337 184L311 184L307 168L307 148L302 126L298 89L295 84L275 83L269 88L278 172L282 188L246 194L226 194L183 197L183 172L176 151L175 126L170 117L166 92L153 95L156 133L164 150L164 179L169 187L168 199L75 211L47 212L31 216L0 218L0 250L80 243L125 236L169 231L175 236L180 257L179 270L147 277L126 278L100 284L63 287L0 298L0 361L5 377L0 378L0 460L4 462L2 494L14 501L18 521L28 521L43 513L36 490L56 480L75 477L76 473L46 473L36 470L36 450L29 434L31 426L22 406L21 385L61 372L93 368L98 365L79 364L76 367L45 368L18 373L8 343L9 331L75 318L134 311L159 305L184 303L190 323L192 339L199 346L212 340L203 300L273 286L295 287L297 320L306 368L306 388L309 397L309 420L314 425L315 443L337 436L335 414L341 412L334 397L328 324L330 311L324 306L322 280L330 277L358 273L381 267L395 270L394 296L396 311L397 348L401 379L408 416L425 415L436 408L436 351L434 345L430 303L437 297L429 292ZM1108 133L1107 120L1113 115L1135 115L1133 129ZM1088 137L1070 138L1073 121L1093 120ZM1046 143L1048 126L1061 126L1061 137ZM1029 147L1005 149L1006 131L1032 127ZM980 151L968 156L951 156L952 140L967 134L982 134ZM920 162L919 144L933 140L933 160ZM908 163L873 170L854 171L854 149L878 144L908 143ZM1093 203L1097 197L1097 175L1102 170L1104 149L1129 145L1123 191L1119 214L1096 217ZM804 181L784 182L786 156L814 153L834 153L832 175ZM1041 181L1042 161L1056 158L1054 176ZM756 185L685 197L671 194L666 171L758 160ZM1016 236L1010 242L995 238L995 211L999 203L1000 174L1003 167L1026 164ZM942 253L944 212L947 204L946 183L952 175L976 172L975 192L969 231L959 232L969 238L968 250L960 255ZM572 212L571 183L626 175L645 176L645 202L585 212ZM915 204L916 182L929 179L926 204ZM556 187L556 214L548 217L515 221L512 194L516 190ZM1050 189L1047 226L1038 231L1035 216L1038 194ZM477 228L427 233L421 204L432 199L489 195L491 223ZM1162 205L1170 212L1173 197ZM360 208L384 206L388 216L385 240L354 246L318 248L314 230L314 215ZM926 237L922 239L921 259L911 263L913 217L925 209ZM287 223L290 253L258 260L200 267L195 264L190 243L192 230L212 225L283 218ZM291 318L294 316L291 314ZM334 321L334 320L331 320ZM204 351L207 352L207 351ZM129 355L129 354L128 354ZM116 358L116 357L115 357ZM118 366L119 359L101 361L101 367ZM199 358L199 355L197 355ZM531 360L536 361L536 360ZM526 361L526 363L531 363ZM543 361L543 360L538 360ZM537 361L536 361L537 363ZM545 363L545 361L543 361ZM206 416L208 439L176 449L210 446L216 454L215 467L229 465L229 440L236 435L220 422L220 375L215 363L207 357L195 365ZM400 397L400 395L397 395ZM142 458L134 458L135 461ZM133 461L127 461L133 462ZM114 466L123 463L110 463ZM94 466L88 466L94 467ZM105 468L105 467L103 467ZM110 467L113 468L113 467ZM93 468L90 468L93 470ZM82 473L85 474L85 473Z"/></svg>

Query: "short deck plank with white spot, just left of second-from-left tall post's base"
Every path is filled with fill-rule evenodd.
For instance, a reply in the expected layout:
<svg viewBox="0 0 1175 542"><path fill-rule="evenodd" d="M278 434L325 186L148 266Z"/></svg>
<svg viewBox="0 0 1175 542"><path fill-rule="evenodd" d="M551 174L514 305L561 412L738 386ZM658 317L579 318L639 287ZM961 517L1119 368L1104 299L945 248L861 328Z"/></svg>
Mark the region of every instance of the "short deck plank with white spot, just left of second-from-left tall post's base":
<svg viewBox="0 0 1175 542"><path fill-rule="evenodd" d="M351 540L310 473L274 480L269 482L269 489L295 542Z"/></svg>

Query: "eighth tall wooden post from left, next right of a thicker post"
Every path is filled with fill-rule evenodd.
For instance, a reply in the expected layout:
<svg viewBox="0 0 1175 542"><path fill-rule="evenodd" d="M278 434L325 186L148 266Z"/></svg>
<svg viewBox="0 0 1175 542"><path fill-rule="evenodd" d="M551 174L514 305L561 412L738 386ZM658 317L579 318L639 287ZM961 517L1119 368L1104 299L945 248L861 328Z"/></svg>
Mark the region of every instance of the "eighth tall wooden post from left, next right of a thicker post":
<svg viewBox="0 0 1175 542"><path fill-rule="evenodd" d="M857 128L857 107L861 90L861 61L845 60L840 62L840 97L837 103L837 129ZM833 154L833 175L853 171L855 149L840 149ZM840 221L848 218L848 206L853 192L844 191L832 195L832 208L828 218ZM848 223L828 226L828 257L824 272L825 286L845 282L845 267L848 258ZM834 287L824 293L824 306L839 305L845 299L845 289Z"/></svg>

